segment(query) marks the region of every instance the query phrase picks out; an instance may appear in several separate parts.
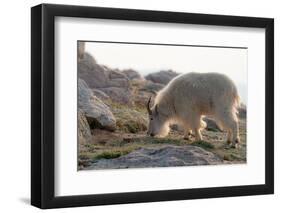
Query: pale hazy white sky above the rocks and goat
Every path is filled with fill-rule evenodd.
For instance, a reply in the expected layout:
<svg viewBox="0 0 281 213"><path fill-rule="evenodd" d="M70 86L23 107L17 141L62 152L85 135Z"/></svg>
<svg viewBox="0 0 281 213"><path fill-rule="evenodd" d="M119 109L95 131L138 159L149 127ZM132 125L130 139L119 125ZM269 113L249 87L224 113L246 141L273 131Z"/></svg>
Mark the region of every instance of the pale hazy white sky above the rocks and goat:
<svg viewBox="0 0 281 213"><path fill-rule="evenodd" d="M236 83L247 103L247 49L87 42L86 51L99 64L132 68L144 76L167 69L224 73Z"/></svg>

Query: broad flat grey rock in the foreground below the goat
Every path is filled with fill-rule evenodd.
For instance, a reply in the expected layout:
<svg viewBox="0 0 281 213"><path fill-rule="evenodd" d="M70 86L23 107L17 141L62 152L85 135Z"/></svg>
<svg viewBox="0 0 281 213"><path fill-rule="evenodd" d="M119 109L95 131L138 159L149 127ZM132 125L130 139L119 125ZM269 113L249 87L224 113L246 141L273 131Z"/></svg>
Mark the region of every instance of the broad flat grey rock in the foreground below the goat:
<svg viewBox="0 0 281 213"><path fill-rule="evenodd" d="M215 154L192 145L141 148L114 159L100 159L85 169L121 169L222 164Z"/></svg>

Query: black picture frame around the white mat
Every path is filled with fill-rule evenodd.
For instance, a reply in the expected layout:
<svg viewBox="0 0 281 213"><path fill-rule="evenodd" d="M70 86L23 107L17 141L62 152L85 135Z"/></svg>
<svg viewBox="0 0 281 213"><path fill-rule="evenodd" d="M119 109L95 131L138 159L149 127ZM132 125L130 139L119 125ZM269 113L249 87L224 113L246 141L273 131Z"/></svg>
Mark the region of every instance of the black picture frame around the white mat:
<svg viewBox="0 0 281 213"><path fill-rule="evenodd" d="M266 134L265 184L93 195L54 195L54 21L55 17L100 18L162 23L264 28ZM164 11L41 4L31 8L31 204L60 208L217 198L274 193L274 20ZM258 131L258 130L257 130Z"/></svg>

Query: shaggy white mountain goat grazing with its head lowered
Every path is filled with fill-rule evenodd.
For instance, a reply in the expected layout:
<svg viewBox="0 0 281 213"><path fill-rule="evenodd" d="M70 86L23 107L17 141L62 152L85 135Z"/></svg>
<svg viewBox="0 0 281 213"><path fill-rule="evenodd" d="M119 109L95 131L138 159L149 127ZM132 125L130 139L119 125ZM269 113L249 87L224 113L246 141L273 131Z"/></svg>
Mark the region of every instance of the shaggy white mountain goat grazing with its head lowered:
<svg viewBox="0 0 281 213"><path fill-rule="evenodd" d="M185 138L191 131L202 140L200 130L206 127L202 117L212 116L221 129L228 132L228 142L236 147L240 142L238 127L239 96L234 82L219 73L187 73L171 80L155 97L150 107L148 134L165 137L169 125L181 124Z"/></svg>

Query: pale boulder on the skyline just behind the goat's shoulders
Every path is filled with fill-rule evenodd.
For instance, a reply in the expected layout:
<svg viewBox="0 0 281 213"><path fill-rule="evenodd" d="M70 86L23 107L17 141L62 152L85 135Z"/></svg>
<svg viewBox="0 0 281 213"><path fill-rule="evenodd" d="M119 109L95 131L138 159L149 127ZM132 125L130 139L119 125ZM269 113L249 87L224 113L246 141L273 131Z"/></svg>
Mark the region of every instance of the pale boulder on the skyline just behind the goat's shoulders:
<svg viewBox="0 0 281 213"><path fill-rule="evenodd" d="M179 74L172 70L162 70L159 72L151 73L147 75L145 78L146 80L150 80L154 83L166 85L170 80L172 80L177 75Z"/></svg>

